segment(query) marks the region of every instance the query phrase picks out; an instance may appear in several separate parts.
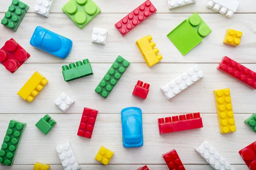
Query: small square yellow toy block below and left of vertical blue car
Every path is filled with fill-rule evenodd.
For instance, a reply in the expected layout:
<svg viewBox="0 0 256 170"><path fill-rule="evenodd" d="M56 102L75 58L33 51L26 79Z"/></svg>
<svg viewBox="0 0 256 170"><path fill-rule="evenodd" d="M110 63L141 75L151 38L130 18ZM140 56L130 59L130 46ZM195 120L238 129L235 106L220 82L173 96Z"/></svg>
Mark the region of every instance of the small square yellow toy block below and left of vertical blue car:
<svg viewBox="0 0 256 170"><path fill-rule="evenodd" d="M101 146L99 149L99 152L95 156L95 159L97 161L101 162L102 164L107 165L109 163L109 161L111 160L113 154L114 154L113 151L108 150L104 146Z"/></svg>

